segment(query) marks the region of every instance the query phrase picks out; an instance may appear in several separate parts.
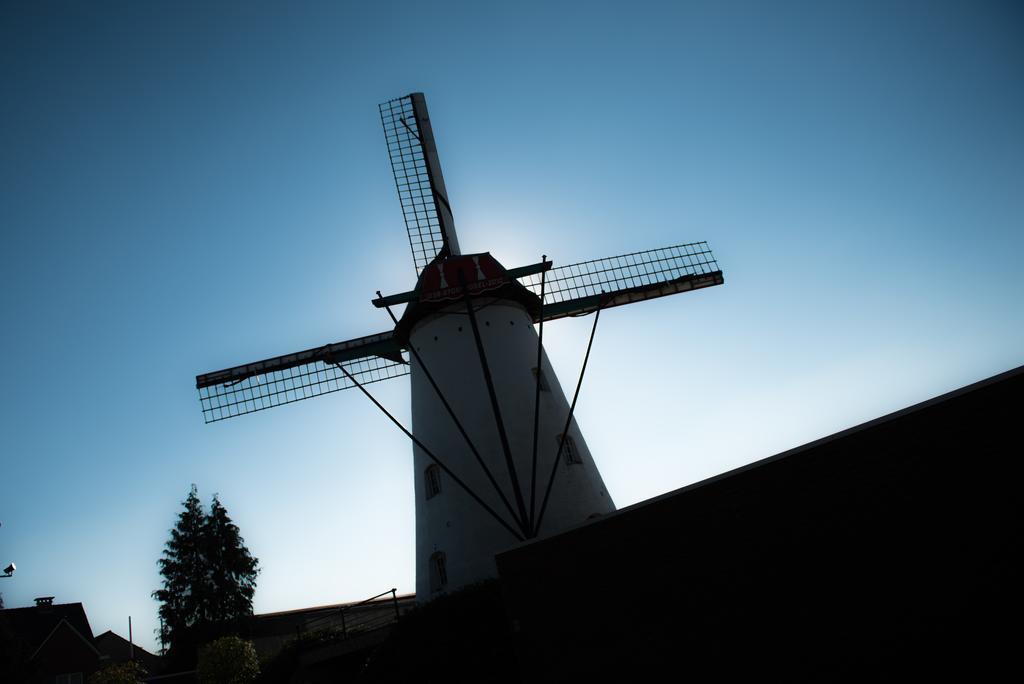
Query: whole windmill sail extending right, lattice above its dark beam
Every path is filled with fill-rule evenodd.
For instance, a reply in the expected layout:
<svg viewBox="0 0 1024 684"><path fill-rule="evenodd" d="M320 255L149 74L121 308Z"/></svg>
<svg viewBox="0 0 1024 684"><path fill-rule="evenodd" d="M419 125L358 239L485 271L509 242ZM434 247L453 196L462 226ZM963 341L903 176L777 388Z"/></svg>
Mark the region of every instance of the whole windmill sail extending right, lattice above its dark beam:
<svg viewBox="0 0 1024 684"><path fill-rule="evenodd" d="M541 294L541 273L520 276L519 282ZM621 306L724 282L708 243L702 242L556 266L545 276L544 319L589 313L598 304Z"/></svg>

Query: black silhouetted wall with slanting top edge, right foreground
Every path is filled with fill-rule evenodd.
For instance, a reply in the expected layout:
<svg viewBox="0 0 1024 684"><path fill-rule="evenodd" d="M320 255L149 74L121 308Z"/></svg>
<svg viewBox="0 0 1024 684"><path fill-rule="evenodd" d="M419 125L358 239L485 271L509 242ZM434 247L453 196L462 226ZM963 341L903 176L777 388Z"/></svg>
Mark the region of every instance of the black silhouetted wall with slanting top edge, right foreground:
<svg viewBox="0 0 1024 684"><path fill-rule="evenodd" d="M1022 395L1024 368L500 555L524 681L1019 671Z"/></svg>

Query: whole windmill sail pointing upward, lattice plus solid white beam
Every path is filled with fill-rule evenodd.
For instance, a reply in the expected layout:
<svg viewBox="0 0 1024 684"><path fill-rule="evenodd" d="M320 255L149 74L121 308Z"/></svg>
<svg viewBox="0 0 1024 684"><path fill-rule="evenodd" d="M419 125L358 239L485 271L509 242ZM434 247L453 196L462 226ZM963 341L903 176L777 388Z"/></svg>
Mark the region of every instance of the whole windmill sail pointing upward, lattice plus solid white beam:
<svg viewBox="0 0 1024 684"><path fill-rule="evenodd" d="M416 274L441 252L459 254L434 133L423 93L380 105L391 171L413 250Z"/></svg>

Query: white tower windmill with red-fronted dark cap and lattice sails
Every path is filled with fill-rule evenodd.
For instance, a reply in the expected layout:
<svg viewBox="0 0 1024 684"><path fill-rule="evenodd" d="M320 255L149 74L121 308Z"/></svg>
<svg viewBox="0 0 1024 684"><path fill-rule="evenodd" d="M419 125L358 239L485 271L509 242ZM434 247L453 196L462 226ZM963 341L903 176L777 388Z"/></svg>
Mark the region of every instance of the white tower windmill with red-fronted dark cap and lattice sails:
<svg viewBox="0 0 1024 684"><path fill-rule="evenodd" d="M348 388L413 441L418 600L497 573L494 556L614 510L572 418L602 310L721 285L707 243L555 266L462 254L422 93L380 105L415 289L374 306L390 330L196 378L212 423ZM392 307L404 304L401 317ZM594 314L571 402L544 324ZM535 328L536 326L536 328ZM367 388L410 375L401 425Z"/></svg>

